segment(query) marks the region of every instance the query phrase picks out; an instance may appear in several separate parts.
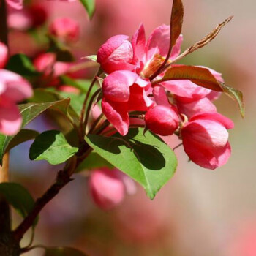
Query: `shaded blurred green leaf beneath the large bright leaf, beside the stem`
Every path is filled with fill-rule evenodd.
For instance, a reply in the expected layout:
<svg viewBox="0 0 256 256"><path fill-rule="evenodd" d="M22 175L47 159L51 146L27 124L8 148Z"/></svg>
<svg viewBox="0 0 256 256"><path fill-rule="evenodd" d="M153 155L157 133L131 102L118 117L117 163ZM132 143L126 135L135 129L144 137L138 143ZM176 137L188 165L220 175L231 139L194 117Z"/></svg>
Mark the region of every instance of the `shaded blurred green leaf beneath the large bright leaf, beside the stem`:
<svg viewBox="0 0 256 256"><path fill-rule="evenodd" d="M101 167L108 167L109 169L113 169L114 166L111 165L104 158L100 157L96 152L91 152L83 162L78 165L78 168L75 170L76 173L79 173L83 170L93 170Z"/></svg>

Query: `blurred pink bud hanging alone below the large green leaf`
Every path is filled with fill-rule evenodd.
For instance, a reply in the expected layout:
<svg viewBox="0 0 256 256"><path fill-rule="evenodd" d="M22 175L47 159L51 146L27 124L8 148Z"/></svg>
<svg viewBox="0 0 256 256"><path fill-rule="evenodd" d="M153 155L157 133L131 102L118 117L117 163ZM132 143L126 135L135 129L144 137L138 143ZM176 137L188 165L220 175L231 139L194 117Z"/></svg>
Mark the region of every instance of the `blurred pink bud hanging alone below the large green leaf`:
<svg viewBox="0 0 256 256"><path fill-rule="evenodd" d="M89 189L94 203L103 210L109 210L124 200L124 182L116 169L94 170L89 180Z"/></svg>

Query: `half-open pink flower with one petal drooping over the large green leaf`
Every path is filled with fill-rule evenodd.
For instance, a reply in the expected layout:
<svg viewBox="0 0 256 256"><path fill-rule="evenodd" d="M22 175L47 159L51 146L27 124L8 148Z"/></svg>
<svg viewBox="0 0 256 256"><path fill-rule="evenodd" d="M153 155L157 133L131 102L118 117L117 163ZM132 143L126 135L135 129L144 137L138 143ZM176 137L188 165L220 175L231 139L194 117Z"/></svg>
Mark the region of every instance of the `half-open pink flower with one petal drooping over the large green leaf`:
<svg viewBox="0 0 256 256"><path fill-rule="evenodd" d="M154 105L146 91L151 83L128 70L108 75L102 83L102 112L121 135L129 128L129 111L146 111Z"/></svg>

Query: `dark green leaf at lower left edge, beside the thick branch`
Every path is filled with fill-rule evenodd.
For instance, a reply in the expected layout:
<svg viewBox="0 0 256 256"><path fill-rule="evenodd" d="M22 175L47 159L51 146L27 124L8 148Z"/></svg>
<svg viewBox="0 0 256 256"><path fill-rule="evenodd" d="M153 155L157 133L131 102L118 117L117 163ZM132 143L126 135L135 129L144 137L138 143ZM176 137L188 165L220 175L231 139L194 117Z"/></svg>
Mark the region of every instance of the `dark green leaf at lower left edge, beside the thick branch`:
<svg viewBox="0 0 256 256"><path fill-rule="evenodd" d="M33 197L31 197L29 191L20 184L11 182L1 183L0 194L4 196L5 200L7 200L23 218L34 208ZM34 225L37 224L37 221Z"/></svg>

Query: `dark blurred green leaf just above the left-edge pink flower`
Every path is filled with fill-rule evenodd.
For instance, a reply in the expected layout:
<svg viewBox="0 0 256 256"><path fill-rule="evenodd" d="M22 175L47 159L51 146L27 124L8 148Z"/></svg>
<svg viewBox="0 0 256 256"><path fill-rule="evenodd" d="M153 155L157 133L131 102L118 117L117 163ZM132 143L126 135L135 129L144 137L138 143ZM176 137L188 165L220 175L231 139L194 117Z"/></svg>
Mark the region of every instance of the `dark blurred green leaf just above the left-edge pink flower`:
<svg viewBox="0 0 256 256"><path fill-rule="evenodd" d="M39 75L31 59L25 54L15 54L10 57L6 69L23 76Z"/></svg>

